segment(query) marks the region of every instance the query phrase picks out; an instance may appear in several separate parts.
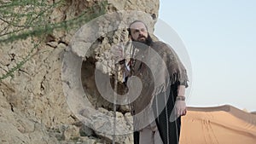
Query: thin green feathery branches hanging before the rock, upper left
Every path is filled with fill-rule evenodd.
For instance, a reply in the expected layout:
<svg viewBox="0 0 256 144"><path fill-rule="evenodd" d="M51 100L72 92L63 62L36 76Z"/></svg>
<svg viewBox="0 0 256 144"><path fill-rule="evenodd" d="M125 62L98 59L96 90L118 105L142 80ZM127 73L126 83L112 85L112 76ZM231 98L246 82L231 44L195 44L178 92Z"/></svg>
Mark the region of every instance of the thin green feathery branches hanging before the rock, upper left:
<svg viewBox="0 0 256 144"><path fill-rule="evenodd" d="M55 0L53 0L55 2ZM84 23L106 13L107 2L101 1L92 7L84 9L78 16L70 20L53 21L50 15L54 9L67 7L67 0L49 3L48 0L0 0L0 45L15 43L28 37L42 37L54 31L69 31L82 26ZM40 38L39 38L40 39ZM13 76L27 60L32 58L34 49L38 49L42 39L34 44L27 56L18 62L9 72L0 77ZM1 48L0 48L1 49Z"/></svg>

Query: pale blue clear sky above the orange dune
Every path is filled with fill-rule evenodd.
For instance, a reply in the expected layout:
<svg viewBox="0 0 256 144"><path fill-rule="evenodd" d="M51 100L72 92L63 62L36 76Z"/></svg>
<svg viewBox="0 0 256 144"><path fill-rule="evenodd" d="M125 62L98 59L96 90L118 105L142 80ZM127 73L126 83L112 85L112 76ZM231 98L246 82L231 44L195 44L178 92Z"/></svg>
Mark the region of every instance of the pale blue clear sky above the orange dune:
<svg viewBox="0 0 256 144"><path fill-rule="evenodd" d="M192 67L189 107L256 111L255 7L255 0L160 0L159 18L182 39Z"/></svg>

